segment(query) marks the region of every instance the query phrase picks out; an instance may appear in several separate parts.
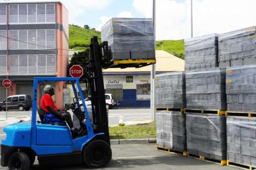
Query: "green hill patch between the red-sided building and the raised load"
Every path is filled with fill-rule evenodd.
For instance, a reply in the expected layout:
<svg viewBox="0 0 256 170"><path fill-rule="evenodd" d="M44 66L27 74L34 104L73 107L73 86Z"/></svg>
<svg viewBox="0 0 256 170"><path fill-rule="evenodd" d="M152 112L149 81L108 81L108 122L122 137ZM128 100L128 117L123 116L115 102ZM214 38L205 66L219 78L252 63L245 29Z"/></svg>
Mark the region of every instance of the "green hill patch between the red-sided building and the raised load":
<svg viewBox="0 0 256 170"><path fill-rule="evenodd" d="M93 36L101 40L101 32L95 29L86 29L77 25L69 25L69 49L85 50Z"/></svg>

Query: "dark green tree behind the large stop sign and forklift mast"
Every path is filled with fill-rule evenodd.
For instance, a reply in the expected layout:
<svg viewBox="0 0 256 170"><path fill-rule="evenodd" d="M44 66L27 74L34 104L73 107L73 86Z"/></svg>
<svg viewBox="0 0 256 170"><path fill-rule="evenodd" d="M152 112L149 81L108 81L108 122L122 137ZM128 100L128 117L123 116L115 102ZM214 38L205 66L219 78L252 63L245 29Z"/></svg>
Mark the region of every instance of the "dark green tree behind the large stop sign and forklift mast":
<svg viewBox="0 0 256 170"><path fill-rule="evenodd" d="M69 75L69 69L73 65L80 65L83 68L83 72L84 72L80 80L84 80L85 74L87 73L86 62L89 60L89 53L90 53L90 49L87 48L85 51L73 54L70 64L68 65L68 75Z"/></svg>

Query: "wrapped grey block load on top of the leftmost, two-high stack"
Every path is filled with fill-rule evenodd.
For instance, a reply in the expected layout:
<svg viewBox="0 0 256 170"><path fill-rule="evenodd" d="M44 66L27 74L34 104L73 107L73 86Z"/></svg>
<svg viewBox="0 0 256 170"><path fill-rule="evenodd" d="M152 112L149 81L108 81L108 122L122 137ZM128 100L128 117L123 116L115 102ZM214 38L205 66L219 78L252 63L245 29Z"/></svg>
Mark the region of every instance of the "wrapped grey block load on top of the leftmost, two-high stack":
<svg viewBox="0 0 256 170"><path fill-rule="evenodd" d="M158 74L155 78L156 108L185 108L185 73Z"/></svg>

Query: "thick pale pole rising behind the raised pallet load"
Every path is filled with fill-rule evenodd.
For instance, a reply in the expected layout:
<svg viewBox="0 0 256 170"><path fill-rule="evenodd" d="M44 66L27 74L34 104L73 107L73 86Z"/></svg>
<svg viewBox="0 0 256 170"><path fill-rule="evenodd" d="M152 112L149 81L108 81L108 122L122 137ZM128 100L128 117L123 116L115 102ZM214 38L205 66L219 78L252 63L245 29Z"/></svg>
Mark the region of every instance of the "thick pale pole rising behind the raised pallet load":
<svg viewBox="0 0 256 170"><path fill-rule="evenodd" d="M152 12L152 20L153 20L153 30L154 30L154 41L155 41L155 0L153 0L153 12ZM155 121L155 64L151 65L151 73L150 73L150 114L151 120Z"/></svg>

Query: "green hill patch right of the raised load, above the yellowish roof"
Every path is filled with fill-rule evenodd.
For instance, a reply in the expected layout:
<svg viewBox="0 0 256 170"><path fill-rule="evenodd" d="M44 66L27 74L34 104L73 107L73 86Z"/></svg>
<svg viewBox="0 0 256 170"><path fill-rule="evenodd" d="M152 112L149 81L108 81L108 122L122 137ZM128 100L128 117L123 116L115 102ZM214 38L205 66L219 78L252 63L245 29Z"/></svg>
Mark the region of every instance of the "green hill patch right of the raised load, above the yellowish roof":
<svg viewBox="0 0 256 170"><path fill-rule="evenodd" d="M184 60L184 40L162 40L156 41L156 50L162 50L169 52Z"/></svg>

